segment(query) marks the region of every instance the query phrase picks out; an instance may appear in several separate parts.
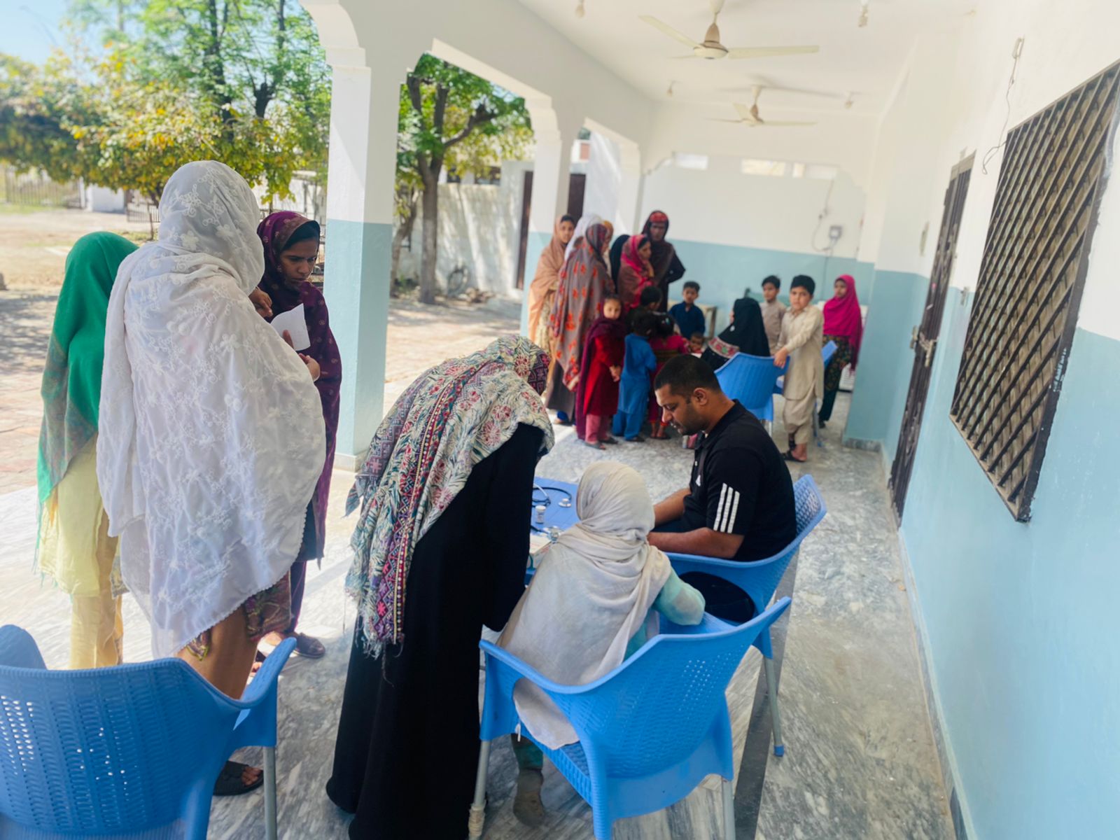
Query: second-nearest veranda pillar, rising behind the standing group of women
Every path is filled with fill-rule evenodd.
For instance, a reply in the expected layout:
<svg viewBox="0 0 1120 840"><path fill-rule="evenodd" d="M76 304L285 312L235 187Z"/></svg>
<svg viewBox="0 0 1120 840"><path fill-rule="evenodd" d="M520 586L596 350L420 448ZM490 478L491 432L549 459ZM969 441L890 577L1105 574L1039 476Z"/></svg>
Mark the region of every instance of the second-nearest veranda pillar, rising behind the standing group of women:
<svg viewBox="0 0 1120 840"><path fill-rule="evenodd" d="M529 286L536 273L541 251L552 239L557 216L568 208L568 179L571 147L581 120L558 114L551 105L526 102L536 141L533 156L533 196L529 208L529 236L525 244L525 295L521 306L521 332L529 325Z"/></svg>

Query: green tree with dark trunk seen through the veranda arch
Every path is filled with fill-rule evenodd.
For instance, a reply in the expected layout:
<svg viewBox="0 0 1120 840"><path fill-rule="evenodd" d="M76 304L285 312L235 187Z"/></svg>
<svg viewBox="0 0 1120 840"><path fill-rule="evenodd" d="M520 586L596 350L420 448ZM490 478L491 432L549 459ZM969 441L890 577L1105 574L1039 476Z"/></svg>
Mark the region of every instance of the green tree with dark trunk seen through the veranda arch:
<svg viewBox="0 0 1120 840"><path fill-rule="evenodd" d="M417 194L423 209L421 301L436 300L440 172L480 172L520 157L531 137L525 102L508 91L427 54L409 74L401 90L396 198L398 212L405 213L401 226L407 223L409 231ZM394 245L395 258L400 245Z"/></svg>

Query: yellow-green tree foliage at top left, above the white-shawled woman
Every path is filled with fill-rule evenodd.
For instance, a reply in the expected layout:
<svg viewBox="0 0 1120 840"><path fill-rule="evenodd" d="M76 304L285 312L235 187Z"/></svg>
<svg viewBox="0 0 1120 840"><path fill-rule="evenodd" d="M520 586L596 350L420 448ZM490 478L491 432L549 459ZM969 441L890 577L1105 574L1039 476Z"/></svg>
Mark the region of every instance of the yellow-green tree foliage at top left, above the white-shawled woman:
<svg viewBox="0 0 1120 840"><path fill-rule="evenodd" d="M0 62L0 160L158 199L222 160L269 195L325 177L329 68L296 0L77 0L43 67Z"/></svg>

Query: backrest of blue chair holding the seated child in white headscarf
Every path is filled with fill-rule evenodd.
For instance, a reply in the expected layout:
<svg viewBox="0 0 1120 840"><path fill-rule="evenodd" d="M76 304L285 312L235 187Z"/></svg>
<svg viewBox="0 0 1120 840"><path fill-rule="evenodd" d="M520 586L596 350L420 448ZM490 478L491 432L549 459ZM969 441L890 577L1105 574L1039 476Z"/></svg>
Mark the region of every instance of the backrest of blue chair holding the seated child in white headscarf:
<svg viewBox="0 0 1120 840"><path fill-rule="evenodd" d="M747 648L790 604L707 635L654 636L588 685L542 685L613 778L642 778L690 756L727 713L725 691ZM564 689L563 694L549 687ZM569 693L571 692L571 693Z"/></svg>

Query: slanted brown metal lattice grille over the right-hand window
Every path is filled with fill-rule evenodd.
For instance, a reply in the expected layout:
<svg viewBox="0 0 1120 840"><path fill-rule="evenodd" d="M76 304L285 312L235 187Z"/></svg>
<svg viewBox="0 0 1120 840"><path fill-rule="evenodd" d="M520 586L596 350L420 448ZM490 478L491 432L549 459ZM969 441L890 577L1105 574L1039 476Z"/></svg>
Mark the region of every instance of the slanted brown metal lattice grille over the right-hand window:
<svg viewBox="0 0 1120 840"><path fill-rule="evenodd" d="M1120 62L1007 137L950 418L1030 519L1117 130Z"/></svg>

